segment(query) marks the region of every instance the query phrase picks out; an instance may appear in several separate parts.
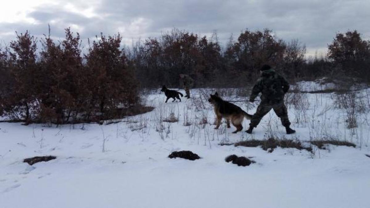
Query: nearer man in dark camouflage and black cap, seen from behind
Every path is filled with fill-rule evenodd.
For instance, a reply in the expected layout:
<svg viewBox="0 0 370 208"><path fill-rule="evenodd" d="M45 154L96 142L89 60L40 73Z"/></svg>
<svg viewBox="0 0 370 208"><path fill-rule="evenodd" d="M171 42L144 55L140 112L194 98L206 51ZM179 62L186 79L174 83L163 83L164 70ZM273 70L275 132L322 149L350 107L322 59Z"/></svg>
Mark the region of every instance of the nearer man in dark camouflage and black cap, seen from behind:
<svg viewBox="0 0 370 208"><path fill-rule="evenodd" d="M261 77L252 89L249 102L254 102L259 93L261 95L261 103L257 107L256 113L250 120L249 129L246 130L248 134L252 133L262 117L265 116L271 109L280 118L281 123L286 129L287 134L293 134L296 131L291 129L288 112L284 104L284 95L289 90L289 83L286 79L277 74L269 65L263 65L260 69Z"/></svg>

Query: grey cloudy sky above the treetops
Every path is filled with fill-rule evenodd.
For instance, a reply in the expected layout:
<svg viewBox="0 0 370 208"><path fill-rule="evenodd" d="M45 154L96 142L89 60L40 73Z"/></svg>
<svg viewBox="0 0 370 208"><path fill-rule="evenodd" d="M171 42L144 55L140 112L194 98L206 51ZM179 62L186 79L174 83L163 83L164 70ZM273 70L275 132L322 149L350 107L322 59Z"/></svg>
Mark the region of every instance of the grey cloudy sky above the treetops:
<svg viewBox="0 0 370 208"><path fill-rule="evenodd" d="M298 39L307 53L325 53L338 32L370 37L370 0L9 0L0 7L1 46L15 31L53 37L71 27L83 39L119 32L125 44L159 37L172 28L211 36L225 44L242 30L270 28L286 41Z"/></svg>

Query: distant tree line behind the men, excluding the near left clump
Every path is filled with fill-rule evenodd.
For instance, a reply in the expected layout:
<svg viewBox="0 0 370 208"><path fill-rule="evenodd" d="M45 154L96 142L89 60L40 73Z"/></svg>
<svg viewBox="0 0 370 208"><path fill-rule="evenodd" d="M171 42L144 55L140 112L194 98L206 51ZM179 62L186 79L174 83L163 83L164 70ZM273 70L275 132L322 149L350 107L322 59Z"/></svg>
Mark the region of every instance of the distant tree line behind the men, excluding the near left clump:
<svg viewBox="0 0 370 208"><path fill-rule="evenodd" d="M244 30L224 48L215 37L174 29L134 45L132 60L142 86L179 87L178 74L185 73L198 87L245 87L266 63L291 81L324 76L370 81L370 41L356 30L336 34L326 56L310 58L305 58L305 44L297 39L286 42L269 29Z"/></svg>

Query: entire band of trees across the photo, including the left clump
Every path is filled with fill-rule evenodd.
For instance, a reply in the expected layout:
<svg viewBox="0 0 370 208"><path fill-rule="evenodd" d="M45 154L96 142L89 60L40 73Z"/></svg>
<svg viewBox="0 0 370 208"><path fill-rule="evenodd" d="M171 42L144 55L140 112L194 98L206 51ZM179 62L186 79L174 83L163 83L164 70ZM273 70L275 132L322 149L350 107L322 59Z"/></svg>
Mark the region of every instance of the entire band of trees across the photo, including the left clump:
<svg viewBox="0 0 370 208"><path fill-rule="evenodd" d="M179 87L179 74L191 76L196 87L245 87L266 63L290 80L370 81L370 42L356 30L336 34L327 56L310 59L299 40L286 42L269 29L244 30L225 47L216 33L207 38L178 29L132 47L121 47L121 40L100 34L83 54L80 35L70 28L59 41L50 30L41 40L16 33L0 50L0 112L26 123L113 118L139 104L140 88Z"/></svg>

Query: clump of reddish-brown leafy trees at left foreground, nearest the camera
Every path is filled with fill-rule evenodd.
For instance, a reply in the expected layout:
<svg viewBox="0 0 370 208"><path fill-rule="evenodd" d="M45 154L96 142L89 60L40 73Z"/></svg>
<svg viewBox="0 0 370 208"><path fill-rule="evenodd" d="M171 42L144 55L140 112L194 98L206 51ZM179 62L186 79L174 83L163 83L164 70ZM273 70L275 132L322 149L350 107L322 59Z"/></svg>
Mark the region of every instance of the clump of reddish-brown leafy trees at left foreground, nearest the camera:
<svg viewBox="0 0 370 208"><path fill-rule="evenodd" d="M54 41L18 34L0 51L0 112L12 121L71 123L116 116L138 103L133 64L120 47L122 37L101 36L81 54L78 33L65 29Z"/></svg>

